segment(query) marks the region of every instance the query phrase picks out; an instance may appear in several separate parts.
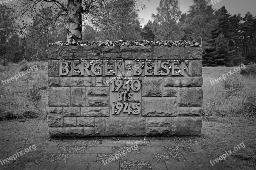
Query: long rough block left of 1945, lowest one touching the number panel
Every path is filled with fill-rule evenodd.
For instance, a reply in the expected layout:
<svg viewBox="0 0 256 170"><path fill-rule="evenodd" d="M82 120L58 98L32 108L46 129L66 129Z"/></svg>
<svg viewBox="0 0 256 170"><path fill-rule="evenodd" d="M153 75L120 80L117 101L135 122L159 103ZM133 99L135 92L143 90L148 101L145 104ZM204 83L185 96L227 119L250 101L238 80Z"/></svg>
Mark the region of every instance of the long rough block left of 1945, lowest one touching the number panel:
<svg viewBox="0 0 256 170"><path fill-rule="evenodd" d="M109 116L109 107L82 107L82 117L107 117Z"/></svg>

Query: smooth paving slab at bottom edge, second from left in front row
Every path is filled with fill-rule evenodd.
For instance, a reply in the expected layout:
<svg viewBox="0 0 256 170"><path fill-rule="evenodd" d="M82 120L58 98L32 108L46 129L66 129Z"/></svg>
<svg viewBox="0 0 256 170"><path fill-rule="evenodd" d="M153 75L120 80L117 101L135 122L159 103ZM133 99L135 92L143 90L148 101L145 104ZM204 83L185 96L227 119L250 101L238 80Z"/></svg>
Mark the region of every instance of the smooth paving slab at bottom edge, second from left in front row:
<svg viewBox="0 0 256 170"><path fill-rule="evenodd" d="M87 166L88 162L59 162L54 170L84 170Z"/></svg>

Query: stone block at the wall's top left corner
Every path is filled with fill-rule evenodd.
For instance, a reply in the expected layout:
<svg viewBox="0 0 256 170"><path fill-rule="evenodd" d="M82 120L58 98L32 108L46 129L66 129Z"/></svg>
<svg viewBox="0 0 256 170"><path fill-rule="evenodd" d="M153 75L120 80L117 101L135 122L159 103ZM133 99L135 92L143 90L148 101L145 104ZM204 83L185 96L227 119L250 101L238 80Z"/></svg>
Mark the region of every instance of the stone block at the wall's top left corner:
<svg viewBox="0 0 256 170"><path fill-rule="evenodd" d="M69 46L49 46L48 59L69 59Z"/></svg>

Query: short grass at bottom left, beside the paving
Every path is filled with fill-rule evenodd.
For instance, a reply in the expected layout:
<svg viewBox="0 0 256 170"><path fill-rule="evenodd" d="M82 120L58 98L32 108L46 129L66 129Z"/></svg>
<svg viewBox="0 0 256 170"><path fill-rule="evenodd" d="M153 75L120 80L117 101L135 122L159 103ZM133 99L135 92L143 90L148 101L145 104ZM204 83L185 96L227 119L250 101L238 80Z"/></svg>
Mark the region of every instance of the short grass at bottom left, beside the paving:
<svg viewBox="0 0 256 170"><path fill-rule="evenodd" d="M30 119L26 122L18 122L17 120L0 122L0 159L6 159L23 151L29 146L36 145L36 151L28 153L10 161L2 166L0 170L6 169L22 169L26 163L39 160L40 153L49 144L48 126L46 120Z"/></svg>

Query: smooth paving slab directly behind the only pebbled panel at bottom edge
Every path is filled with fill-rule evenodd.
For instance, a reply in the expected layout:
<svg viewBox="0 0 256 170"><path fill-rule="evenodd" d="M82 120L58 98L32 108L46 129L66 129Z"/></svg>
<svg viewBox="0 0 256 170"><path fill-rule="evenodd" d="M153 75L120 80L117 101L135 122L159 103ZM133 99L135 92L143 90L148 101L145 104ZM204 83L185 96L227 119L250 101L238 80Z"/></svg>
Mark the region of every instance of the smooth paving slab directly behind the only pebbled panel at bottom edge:
<svg viewBox="0 0 256 170"><path fill-rule="evenodd" d="M128 153L126 154L127 161L156 161L154 153Z"/></svg>

